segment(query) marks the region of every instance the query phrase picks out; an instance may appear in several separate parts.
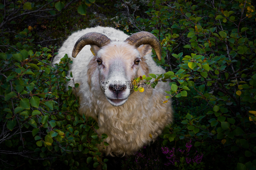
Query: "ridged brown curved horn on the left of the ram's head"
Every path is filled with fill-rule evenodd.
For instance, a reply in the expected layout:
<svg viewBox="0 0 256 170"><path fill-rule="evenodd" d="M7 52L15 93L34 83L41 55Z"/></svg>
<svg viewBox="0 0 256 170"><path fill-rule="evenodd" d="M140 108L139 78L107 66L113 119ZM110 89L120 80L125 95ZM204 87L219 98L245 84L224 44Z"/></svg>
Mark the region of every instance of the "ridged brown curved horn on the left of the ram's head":
<svg viewBox="0 0 256 170"><path fill-rule="evenodd" d="M111 40L103 34L89 32L77 40L72 51L72 57L75 58L85 45L97 45L100 48L109 44L110 42Z"/></svg>

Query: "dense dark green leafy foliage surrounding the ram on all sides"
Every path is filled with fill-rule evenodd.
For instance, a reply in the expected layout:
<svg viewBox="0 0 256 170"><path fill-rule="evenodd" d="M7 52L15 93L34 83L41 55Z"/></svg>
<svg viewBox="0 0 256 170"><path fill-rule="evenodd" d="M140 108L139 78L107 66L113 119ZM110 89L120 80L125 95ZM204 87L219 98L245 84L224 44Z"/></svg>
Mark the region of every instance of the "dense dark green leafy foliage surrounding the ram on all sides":
<svg viewBox="0 0 256 170"><path fill-rule="evenodd" d="M65 82L73 81L66 76L70 59L63 56L54 67L51 60L57 46L37 46L34 39L39 39L39 32L34 33L30 25L18 28L28 14L36 17L37 10L40 15L63 17L61 12L74 2L0 4L2 169L109 167L96 147L108 145L103 142L107 135L96 133L95 120L77 114L79 99L71 93L73 89L64 90ZM71 9L87 15L86 9L95 8L92 3L97 1L79 1ZM122 165L128 169L255 170L256 4L249 0L130 0L112 5L103 4L115 8L110 15L116 17L102 23L126 33L149 31L162 45L162 60L156 62L166 73L141 75L134 81L135 90L143 91L136 87L139 81L153 87L165 81L171 90L166 91L166 101L159 102L172 100L175 109L174 122L161 137L122 160ZM90 16L94 14L86 17ZM49 25L63 29L56 23Z"/></svg>

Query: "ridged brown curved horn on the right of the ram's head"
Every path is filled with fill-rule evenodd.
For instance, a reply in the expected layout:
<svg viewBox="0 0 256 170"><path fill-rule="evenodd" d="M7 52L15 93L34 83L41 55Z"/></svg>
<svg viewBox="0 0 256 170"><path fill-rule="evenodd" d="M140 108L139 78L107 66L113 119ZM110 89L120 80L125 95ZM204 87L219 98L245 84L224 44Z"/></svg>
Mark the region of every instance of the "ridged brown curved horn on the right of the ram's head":
<svg viewBox="0 0 256 170"><path fill-rule="evenodd" d="M161 60L162 52L160 41L157 39L156 36L154 36L150 32L137 32L128 37L124 42L128 42L129 44L134 45L135 47L139 47L142 44L149 44L156 51L158 60Z"/></svg>

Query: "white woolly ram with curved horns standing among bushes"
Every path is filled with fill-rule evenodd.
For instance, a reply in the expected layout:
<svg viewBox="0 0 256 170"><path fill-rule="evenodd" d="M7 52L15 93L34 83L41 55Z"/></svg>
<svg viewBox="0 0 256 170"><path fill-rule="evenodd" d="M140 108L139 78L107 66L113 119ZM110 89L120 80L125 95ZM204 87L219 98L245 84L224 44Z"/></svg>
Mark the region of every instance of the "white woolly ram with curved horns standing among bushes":
<svg viewBox="0 0 256 170"><path fill-rule="evenodd" d="M73 33L58 50L53 63L67 54L75 83L79 83L79 114L93 117L97 133L106 133L106 155L131 155L160 135L172 121L171 103L163 103L168 83L159 82L135 92L132 81L149 73L162 74L151 57L152 47L161 59L159 40L149 32L130 37L110 27L87 28ZM73 81L66 85L74 87Z"/></svg>

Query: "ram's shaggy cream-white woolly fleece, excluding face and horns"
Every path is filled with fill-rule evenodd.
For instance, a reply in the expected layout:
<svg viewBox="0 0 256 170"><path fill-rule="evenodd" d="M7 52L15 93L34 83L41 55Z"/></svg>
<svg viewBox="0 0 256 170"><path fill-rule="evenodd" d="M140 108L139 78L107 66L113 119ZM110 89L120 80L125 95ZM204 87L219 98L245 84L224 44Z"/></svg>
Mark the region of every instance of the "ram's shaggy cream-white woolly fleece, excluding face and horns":
<svg viewBox="0 0 256 170"><path fill-rule="evenodd" d="M155 89L144 88L143 93L131 93L128 100L121 106L111 105L101 89L100 71L95 57L90 51L91 46L86 45L76 58L72 58L75 42L82 35L89 32L102 33L110 38L112 42L116 41L115 43L123 43L129 37L123 32L110 27L97 26L77 31L63 43L53 63L59 63L65 54L73 60L73 64L70 64L69 68L72 71L75 83L79 83L79 87L76 89L80 104L79 114L85 114L87 117L91 116L96 119L99 125L97 132L108 135L105 142L109 143L109 146L103 149L102 145L98 145L99 150L112 156L134 154L144 145L155 141L157 136L161 134L162 129L172 121L171 102L163 103L166 100L165 90L169 90L169 85L168 83L159 82ZM143 76L143 74L148 76L148 73L165 73L160 66L156 65L151 55L152 53L149 53L141 57L137 77ZM66 87L68 86L74 87L73 81L69 81L66 84Z"/></svg>

